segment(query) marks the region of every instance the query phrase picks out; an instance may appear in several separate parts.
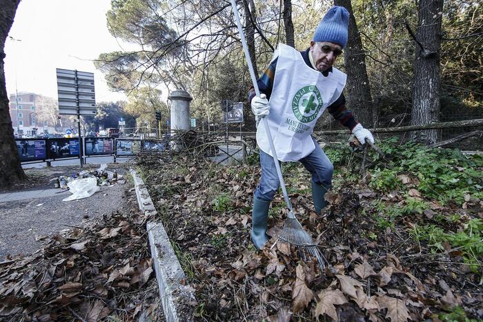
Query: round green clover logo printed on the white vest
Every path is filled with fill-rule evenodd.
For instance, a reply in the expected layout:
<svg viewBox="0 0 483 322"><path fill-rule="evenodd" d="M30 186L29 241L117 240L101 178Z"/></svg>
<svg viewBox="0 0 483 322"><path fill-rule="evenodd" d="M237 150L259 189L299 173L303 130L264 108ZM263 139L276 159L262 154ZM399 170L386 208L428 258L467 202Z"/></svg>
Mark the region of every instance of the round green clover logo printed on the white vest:
<svg viewBox="0 0 483 322"><path fill-rule="evenodd" d="M305 86L295 93L292 110L295 117L302 123L309 123L317 118L324 103L319 89L315 85Z"/></svg>

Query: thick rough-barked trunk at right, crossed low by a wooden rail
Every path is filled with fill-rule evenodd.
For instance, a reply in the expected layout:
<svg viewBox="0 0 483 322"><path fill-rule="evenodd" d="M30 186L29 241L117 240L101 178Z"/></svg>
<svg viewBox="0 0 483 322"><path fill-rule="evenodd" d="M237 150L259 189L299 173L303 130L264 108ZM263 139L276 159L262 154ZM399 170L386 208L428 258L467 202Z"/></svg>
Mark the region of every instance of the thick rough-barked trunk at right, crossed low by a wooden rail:
<svg viewBox="0 0 483 322"><path fill-rule="evenodd" d="M413 111L411 124L437 122L440 119L440 47L443 0L420 0L415 35ZM411 139L433 144L440 130L413 132Z"/></svg>

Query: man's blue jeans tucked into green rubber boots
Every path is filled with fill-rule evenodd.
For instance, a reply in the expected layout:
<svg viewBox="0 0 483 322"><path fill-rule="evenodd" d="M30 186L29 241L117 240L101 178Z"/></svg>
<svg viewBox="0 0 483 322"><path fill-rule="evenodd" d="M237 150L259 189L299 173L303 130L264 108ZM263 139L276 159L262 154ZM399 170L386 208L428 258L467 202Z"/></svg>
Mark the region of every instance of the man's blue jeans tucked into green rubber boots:
<svg viewBox="0 0 483 322"><path fill-rule="evenodd" d="M329 190L332 186L334 165L322 148L320 148L319 143L314 138L312 140L315 144L315 150L299 161L308 172L311 172L314 183L322 185ZM271 201L280 187L273 157L260 150L260 165L262 166L262 179L260 179L260 183L255 189L254 197L264 201Z"/></svg>

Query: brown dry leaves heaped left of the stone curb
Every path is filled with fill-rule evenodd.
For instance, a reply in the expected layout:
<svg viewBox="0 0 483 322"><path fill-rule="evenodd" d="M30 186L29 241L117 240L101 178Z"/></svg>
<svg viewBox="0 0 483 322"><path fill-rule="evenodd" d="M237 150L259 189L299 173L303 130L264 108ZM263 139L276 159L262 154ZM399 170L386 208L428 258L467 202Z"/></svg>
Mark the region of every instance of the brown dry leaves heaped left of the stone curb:
<svg viewBox="0 0 483 322"><path fill-rule="evenodd" d="M0 263L1 321L112 321L159 314L146 221L128 209L50 238L30 257ZM161 319L162 313L161 313Z"/></svg>

